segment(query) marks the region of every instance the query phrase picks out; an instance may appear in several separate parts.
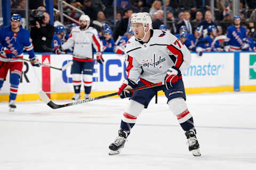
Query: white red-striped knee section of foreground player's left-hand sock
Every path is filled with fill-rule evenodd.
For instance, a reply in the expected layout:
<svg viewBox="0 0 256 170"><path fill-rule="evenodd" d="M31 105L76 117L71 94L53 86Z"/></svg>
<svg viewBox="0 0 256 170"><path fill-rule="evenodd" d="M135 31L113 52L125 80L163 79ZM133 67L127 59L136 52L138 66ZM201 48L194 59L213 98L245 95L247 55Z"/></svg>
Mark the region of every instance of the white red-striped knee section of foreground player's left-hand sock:
<svg viewBox="0 0 256 170"><path fill-rule="evenodd" d="M138 103L137 101L130 100L129 105L122 115L122 121L126 123L136 123L137 117L143 111L143 109L144 105Z"/></svg>

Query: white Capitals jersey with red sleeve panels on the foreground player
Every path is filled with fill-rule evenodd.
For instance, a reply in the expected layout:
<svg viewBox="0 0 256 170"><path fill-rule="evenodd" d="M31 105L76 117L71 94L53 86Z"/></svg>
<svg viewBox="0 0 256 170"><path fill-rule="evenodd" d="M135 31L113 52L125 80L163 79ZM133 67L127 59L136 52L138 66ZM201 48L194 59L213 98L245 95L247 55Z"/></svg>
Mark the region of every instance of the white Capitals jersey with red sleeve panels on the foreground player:
<svg viewBox="0 0 256 170"><path fill-rule="evenodd" d="M137 82L140 77L151 83L164 81L167 70L175 66L185 72L191 62L188 48L169 32L150 30L148 43L141 44L134 36L125 49L127 79Z"/></svg>

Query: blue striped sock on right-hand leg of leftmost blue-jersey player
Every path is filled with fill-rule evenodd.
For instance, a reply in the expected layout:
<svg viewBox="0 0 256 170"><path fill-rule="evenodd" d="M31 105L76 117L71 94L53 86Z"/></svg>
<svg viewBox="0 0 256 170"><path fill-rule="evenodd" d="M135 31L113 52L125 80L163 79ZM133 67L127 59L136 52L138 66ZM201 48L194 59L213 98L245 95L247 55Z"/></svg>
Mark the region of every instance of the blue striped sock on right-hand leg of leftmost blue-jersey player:
<svg viewBox="0 0 256 170"><path fill-rule="evenodd" d="M20 76L15 73L11 73L10 75L10 100L15 100L18 93L18 87L20 83Z"/></svg>

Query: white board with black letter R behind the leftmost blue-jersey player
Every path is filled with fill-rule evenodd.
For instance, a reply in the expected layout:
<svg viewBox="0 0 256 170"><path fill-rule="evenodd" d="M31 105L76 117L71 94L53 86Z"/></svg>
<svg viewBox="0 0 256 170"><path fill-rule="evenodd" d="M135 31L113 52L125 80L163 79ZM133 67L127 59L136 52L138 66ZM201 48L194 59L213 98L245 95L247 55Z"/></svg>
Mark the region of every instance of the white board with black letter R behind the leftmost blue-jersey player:
<svg viewBox="0 0 256 170"><path fill-rule="evenodd" d="M41 58L41 55L37 55ZM28 59L28 55L24 55ZM41 67L33 67L30 62L23 62L22 73L20 77L20 84L18 94L37 94L41 88ZM10 94L10 71L6 76L0 94Z"/></svg>

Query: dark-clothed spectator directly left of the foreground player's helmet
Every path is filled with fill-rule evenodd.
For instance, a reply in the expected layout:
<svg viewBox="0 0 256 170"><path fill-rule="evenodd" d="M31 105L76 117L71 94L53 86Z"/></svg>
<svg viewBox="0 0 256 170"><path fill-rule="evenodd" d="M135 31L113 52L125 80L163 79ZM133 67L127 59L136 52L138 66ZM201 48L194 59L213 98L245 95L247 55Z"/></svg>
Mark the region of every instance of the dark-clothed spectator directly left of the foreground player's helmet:
<svg viewBox="0 0 256 170"><path fill-rule="evenodd" d="M124 10L123 19L117 24L113 33L113 38L116 41L119 36L123 36L125 32L130 30L130 17L132 15L132 9L126 8Z"/></svg>

